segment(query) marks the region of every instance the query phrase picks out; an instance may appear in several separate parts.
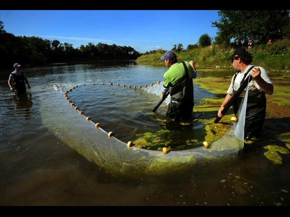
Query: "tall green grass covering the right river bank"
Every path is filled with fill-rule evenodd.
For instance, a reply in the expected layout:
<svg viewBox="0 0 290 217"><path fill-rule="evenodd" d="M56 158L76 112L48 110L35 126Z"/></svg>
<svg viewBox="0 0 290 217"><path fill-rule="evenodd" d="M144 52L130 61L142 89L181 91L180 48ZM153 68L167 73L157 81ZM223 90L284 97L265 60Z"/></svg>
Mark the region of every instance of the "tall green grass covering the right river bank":
<svg viewBox="0 0 290 217"><path fill-rule="evenodd" d="M247 48L247 47L245 47ZM230 69L231 56L234 48L223 48L218 45L198 47L192 50L182 50L176 53L178 61L194 60L198 66ZM273 42L271 45L253 46L249 51L253 55L253 65L265 68L267 71L289 72L290 66L290 40ZM138 64L150 64L164 66L160 59L164 50L157 50L154 54L142 55L137 58Z"/></svg>

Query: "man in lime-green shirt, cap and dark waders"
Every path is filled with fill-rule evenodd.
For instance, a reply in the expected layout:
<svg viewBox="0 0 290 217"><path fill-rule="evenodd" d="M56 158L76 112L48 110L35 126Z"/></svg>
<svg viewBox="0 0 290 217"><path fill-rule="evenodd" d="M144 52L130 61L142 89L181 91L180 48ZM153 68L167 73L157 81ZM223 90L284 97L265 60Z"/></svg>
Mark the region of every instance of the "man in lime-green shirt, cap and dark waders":
<svg viewBox="0 0 290 217"><path fill-rule="evenodd" d="M167 109L167 119L172 121L186 121L191 118L193 110L193 78L197 72L193 60L177 61L173 51L167 51L162 57L169 69L163 75L163 89L161 98L169 91L171 100Z"/></svg>

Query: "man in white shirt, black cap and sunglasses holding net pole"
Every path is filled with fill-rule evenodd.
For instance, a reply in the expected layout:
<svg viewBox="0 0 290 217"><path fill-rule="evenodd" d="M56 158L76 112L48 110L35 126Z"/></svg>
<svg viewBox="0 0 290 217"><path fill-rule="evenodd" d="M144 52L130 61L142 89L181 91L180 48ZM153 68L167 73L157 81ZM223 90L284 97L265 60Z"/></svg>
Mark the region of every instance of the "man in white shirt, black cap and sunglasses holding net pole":
<svg viewBox="0 0 290 217"><path fill-rule="evenodd" d="M268 77L268 74L261 66L253 66L252 55L245 48L237 48L233 54L227 58L232 61L234 70L237 71L232 78L227 95L222 103L218 116L223 117L222 111L228 101L232 98L235 91L237 91L240 85L248 76L252 76L253 80L248 84L248 101L246 108L246 120L245 120L245 138L246 140L252 137L257 137L261 133L266 116L266 96L265 94L273 94L273 85ZM237 115L240 107L243 94L241 94L234 102L234 113Z"/></svg>

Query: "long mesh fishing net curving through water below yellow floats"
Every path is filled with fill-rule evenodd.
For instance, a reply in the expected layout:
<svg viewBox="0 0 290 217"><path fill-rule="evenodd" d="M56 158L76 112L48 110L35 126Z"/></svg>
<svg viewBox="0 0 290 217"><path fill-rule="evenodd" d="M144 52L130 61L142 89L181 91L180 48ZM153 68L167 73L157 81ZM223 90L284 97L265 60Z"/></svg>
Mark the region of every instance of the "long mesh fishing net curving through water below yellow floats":
<svg viewBox="0 0 290 217"><path fill-rule="evenodd" d="M160 99L162 82L156 84L132 87L155 94ZM230 157L244 147L244 126L248 89L237 113L238 122L233 122L224 136L209 144L208 148L200 146L193 149L170 151L147 150L134 147L134 144L122 142L114 137L112 132L106 132L98 123L93 123L69 99L69 93L76 88L86 88L76 85L66 91L54 86L53 102L43 101L41 116L43 124L69 147L83 155L87 160L104 167L116 175L138 176L144 174L160 175L176 174L192 168L203 160L217 160ZM59 94L62 92L62 94ZM45 99L45 96L42 97ZM170 96L164 101L168 104ZM53 118L52 118L53 117ZM57 122L55 121L57 119ZM111 133L111 135L109 135Z"/></svg>

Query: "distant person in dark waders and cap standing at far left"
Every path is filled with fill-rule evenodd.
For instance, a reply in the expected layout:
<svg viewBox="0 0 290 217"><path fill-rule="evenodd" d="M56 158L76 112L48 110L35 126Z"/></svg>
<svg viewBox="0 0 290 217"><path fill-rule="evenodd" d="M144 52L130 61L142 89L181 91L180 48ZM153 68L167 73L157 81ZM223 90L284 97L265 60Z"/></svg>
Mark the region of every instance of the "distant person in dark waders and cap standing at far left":
<svg viewBox="0 0 290 217"><path fill-rule="evenodd" d="M10 91L14 91L16 94L26 93L26 85L28 85L28 89L30 88L27 76L25 72L21 71L20 64L15 63L13 65L14 71L11 72L8 79L8 85L10 87Z"/></svg>

